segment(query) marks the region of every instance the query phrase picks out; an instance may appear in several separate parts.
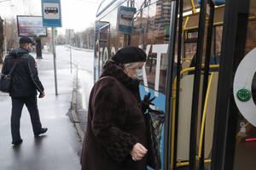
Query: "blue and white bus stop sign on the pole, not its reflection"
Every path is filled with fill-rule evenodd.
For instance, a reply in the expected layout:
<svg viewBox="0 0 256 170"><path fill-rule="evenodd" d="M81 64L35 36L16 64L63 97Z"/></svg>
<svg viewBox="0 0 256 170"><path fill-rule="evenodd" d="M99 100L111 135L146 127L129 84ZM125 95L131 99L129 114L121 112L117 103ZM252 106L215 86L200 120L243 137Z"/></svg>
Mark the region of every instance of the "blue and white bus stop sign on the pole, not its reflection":
<svg viewBox="0 0 256 170"><path fill-rule="evenodd" d="M42 18L45 27L61 27L61 1L42 0Z"/></svg>

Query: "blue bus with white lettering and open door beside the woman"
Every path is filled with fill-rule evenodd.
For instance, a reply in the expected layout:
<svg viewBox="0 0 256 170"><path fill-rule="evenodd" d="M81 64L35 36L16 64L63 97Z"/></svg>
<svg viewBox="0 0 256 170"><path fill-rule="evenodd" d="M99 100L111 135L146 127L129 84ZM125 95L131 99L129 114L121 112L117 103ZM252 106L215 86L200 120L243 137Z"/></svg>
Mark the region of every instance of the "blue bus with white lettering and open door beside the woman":
<svg viewBox="0 0 256 170"><path fill-rule="evenodd" d="M94 81L119 48L145 51L141 96L150 92L166 114L161 169L256 167L255 14L256 0L100 4Z"/></svg>

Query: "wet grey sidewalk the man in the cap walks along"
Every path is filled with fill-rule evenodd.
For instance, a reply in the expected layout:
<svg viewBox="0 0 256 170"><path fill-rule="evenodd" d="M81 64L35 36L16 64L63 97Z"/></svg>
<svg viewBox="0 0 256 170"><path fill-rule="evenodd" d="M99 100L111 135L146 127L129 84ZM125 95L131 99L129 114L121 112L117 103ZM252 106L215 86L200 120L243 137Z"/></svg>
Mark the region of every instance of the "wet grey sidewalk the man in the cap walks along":
<svg viewBox="0 0 256 170"><path fill-rule="evenodd" d="M32 55L36 57L36 54ZM42 125L48 127L48 132L34 138L29 113L24 106L20 119L23 143L13 146L9 120L11 99L9 94L0 92L0 169L79 170L81 167L78 153L82 149L82 144L77 129L67 116L71 112L76 71L74 70L72 75L67 60L56 60L58 95L55 95L53 55L43 54L43 59L36 61L38 75L45 88L45 97L38 99L38 109Z"/></svg>

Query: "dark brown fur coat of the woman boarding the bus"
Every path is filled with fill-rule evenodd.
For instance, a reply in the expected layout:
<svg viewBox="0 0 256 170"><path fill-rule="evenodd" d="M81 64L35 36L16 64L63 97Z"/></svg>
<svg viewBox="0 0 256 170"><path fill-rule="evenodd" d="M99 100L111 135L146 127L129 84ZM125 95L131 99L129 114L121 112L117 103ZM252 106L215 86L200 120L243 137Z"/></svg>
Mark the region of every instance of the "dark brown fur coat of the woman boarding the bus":
<svg viewBox="0 0 256 170"><path fill-rule="evenodd" d="M130 155L134 144L147 148L140 104L139 81L108 61L90 92L82 170L147 169L147 155L141 161L133 161Z"/></svg>

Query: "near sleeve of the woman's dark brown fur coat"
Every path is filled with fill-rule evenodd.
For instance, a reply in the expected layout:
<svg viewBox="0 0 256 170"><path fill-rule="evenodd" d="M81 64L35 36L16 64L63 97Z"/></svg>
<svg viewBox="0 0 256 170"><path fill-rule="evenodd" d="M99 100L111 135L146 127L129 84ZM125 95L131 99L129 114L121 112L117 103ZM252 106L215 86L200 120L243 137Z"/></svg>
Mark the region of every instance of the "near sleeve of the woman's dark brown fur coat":
<svg viewBox="0 0 256 170"><path fill-rule="evenodd" d="M121 130L125 125L127 111L124 94L113 81L96 92L92 104L92 129L96 138L113 160L124 161L138 142L133 135Z"/></svg>

